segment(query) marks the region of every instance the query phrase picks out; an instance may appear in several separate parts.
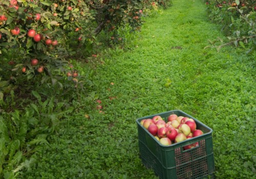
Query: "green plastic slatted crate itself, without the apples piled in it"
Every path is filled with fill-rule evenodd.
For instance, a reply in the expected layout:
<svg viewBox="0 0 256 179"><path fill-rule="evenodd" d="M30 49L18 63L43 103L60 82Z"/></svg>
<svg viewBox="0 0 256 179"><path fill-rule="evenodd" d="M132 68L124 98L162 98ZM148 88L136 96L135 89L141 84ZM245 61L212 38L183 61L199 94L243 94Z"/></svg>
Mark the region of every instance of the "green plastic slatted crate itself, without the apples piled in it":
<svg viewBox="0 0 256 179"><path fill-rule="evenodd" d="M171 114L192 118L196 121L197 129L203 135L180 143L165 146L151 135L141 124L143 119L161 116L165 121ZM159 178L214 178L214 151L212 148L212 129L181 110L170 110L165 113L145 116L136 120L138 126L139 151L142 163L152 168ZM198 142L197 147L183 150L183 147Z"/></svg>

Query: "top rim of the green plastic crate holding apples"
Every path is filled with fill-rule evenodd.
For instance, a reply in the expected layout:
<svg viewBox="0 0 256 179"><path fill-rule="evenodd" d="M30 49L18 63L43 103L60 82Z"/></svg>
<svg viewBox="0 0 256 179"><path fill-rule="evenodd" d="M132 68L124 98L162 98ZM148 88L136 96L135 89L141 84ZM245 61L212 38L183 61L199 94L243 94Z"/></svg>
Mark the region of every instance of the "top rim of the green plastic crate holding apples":
<svg viewBox="0 0 256 179"><path fill-rule="evenodd" d="M147 129L145 129L141 124L140 124L140 121L139 120L142 120L142 119L146 119L146 118L149 118L149 117L152 117L152 116L160 116L162 114L165 114L165 113L173 113L174 111L179 111L181 113L184 113L185 115L187 115L189 118L191 119L194 119L197 123L199 123L200 125L206 127L207 129L209 129L209 132L206 132L204 133L203 135L201 136L197 136L197 137L193 137L191 139L187 139L185 141L182 141L182 142L178 142L178 143L174 143L174 144L171 144L171 145L163 145L161 144ZM178 145L182 145L182 144L185 144L185 145L189 145L190 143L194 143L194 142L191 142L191 141L194 141L194 140L197 140L199 138L203 138L203 137L206 137L208 136L209 134L212 133L212 129L210 127L208 127L207 125L205 125L204 123L200 122L198 119L188 115L187 113L185 113L184 111L180 110L180 109L174 109L174 110L169 110L169 111L165 111L165 112L162 112L162 113L158 113L158 114L154 114L154 115L148 115L148 116L144 116L144 117L141 117L141 118L137 118L136 119L136 122L138 125L140 125L147 133L148 135L150 135L152 138L154 138L154 140L162 147L173 147L173 146L178 146Z"/></svg>

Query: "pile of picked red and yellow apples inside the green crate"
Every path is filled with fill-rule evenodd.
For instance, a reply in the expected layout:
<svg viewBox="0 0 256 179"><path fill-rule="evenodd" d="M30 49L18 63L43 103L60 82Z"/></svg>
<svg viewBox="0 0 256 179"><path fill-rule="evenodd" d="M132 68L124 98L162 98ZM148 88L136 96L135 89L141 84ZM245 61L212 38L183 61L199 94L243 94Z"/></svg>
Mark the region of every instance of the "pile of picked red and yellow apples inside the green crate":
<svg viewBox="0 0 256 179"><path fill-rule="evenodd" d="M203 131L197 129L194 119L177 116L176 114L168 116L167 122L161 116L154 116L152 119L141 120L140 124L163 145L172 145L203 135ZM187 145L184 149L190 149L197 145L198 142Z"/></svg>

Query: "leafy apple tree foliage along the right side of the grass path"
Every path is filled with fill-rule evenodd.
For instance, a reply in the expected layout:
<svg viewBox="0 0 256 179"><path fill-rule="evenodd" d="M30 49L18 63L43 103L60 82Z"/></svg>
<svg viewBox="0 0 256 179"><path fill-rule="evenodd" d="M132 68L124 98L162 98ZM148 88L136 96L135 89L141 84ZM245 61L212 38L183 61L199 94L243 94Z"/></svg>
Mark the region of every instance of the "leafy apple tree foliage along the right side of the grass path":
<svg viewBox="0 0 256 179"><path fill-rule="evenodd" d="M222 26L223 32L228 36L229 42L216 46L217 39L211 44L220 50L227 44L245 48L248 44L249 51L255 49L256 44L256 4L254 1L207 1L209 17Z"/></svg>

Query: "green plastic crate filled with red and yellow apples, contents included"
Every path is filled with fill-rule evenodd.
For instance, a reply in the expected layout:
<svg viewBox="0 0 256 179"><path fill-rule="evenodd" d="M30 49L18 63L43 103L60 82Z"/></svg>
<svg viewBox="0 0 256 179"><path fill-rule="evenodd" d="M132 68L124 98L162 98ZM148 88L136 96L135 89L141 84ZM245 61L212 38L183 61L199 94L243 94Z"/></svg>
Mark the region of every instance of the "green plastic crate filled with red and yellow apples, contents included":
<svg viewBox="0 0 256 179"><path fill-rule="evenodd" d="M139 153L161 179L214 178L212 129L181 110L136 120Z"/></svg>

